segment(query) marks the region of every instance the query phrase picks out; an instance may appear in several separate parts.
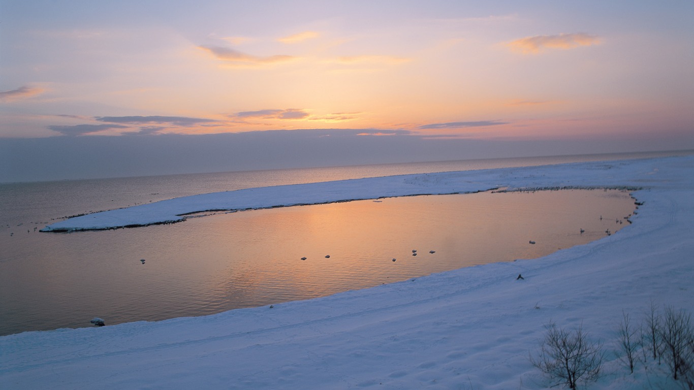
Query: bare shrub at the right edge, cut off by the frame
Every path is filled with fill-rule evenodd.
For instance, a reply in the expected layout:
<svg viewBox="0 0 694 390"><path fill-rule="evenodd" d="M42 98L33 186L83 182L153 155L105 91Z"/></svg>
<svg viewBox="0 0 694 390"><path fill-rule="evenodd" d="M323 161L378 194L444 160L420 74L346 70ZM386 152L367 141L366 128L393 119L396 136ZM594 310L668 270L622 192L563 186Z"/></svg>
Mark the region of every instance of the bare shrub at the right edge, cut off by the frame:
<svg viewBox="0 0 694 390"><path fill-rule="evenodd" d="M659 336L663 343L663 359L672 379L682 379L685 382L694 380L694 328L691 315L684 310L675 310L671 306L665 308L663 323L659 328Z"/></svg>

